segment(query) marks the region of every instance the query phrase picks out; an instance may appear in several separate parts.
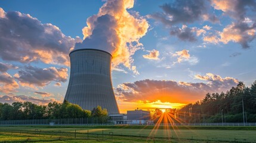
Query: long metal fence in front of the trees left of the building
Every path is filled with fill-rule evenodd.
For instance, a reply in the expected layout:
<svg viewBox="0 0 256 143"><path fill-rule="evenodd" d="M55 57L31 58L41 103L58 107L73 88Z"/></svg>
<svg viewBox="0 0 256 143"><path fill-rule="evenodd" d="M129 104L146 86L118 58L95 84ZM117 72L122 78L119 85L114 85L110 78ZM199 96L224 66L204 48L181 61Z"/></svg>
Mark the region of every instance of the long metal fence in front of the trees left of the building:
<svg viewBox="0 0 256 143"><path fill-rule="evenodd" d="M112 125L109 117L75 119L0 120L0 125Z"/></svg>

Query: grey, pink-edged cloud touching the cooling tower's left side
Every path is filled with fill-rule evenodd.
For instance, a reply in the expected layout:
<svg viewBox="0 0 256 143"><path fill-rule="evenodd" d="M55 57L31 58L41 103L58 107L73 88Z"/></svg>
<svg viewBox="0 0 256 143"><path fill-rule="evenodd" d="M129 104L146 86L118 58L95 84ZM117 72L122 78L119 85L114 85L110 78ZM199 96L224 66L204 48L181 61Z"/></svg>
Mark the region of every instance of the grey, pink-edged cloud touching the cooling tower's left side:
<svg viewBox="0 0 256 143"><path fill-rule="evenodd" d="M39 67L25 66L24 69L14 74L14 77L19 81L21 86L27 86L37 89L36 86L44 87L55 82L66 82L67 68L49 67L41 69Z"/></svg>

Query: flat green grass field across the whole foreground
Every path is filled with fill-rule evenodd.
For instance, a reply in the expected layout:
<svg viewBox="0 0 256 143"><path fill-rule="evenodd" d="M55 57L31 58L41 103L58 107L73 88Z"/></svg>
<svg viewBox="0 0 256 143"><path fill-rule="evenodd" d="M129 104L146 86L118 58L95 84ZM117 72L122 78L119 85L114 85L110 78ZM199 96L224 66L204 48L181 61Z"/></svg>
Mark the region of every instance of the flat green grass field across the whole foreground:
<svg viewBox="0 0 256 143"><path fill-rule="evenodd" d="M149 126L9 126L0 142L256 142L255 128Z"/></svg>

